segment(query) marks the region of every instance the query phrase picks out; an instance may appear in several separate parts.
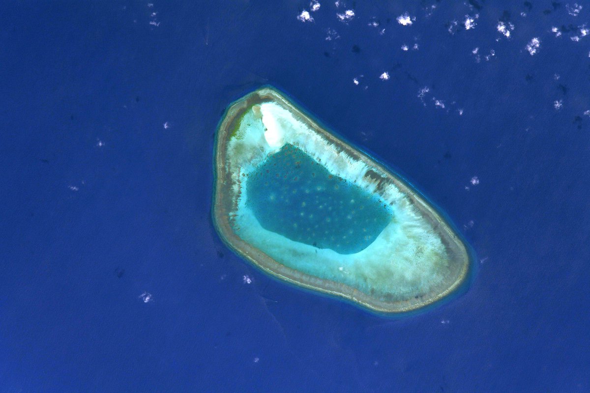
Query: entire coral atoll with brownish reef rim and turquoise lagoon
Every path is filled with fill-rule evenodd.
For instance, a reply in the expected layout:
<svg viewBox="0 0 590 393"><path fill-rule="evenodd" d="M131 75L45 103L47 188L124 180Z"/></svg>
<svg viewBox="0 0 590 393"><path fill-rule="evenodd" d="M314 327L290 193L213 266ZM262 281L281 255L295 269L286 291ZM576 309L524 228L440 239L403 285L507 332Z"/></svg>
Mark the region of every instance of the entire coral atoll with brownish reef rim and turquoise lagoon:
<svg viewBox="0 0 590 393"><path fill-rule="evenodd" d="M466 246L418 191L274 88L225 111L215 175L219 235L277 278L399 313L467 277Z"/></svg>

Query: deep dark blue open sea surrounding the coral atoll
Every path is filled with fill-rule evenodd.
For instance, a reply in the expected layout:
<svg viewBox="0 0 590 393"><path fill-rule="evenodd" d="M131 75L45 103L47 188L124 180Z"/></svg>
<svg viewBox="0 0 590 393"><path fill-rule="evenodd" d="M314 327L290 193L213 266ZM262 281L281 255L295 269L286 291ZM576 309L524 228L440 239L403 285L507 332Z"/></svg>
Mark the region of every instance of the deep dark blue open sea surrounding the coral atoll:
<svg viewBox="0 0 590 393"><path fill-rule="evenodd" d="M0 391L590 391L590 3L311 9L5 2ZM222 244L214 131L262 84L440 206L466 293L384 319Z"/></svg>

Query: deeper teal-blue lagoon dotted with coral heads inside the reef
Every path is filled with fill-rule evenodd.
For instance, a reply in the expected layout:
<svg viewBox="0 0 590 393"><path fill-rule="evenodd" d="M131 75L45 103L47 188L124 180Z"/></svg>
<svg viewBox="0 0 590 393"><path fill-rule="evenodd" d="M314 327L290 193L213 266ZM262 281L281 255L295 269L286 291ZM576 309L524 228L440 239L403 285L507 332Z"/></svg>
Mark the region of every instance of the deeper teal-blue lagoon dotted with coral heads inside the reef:
<svg viewBox="0 0 590 393"><path fill-rule="evenodd" d="M341 254L365 249L392 219L382 200L290 144L250 173L246 193L264 229Z"/></svg>

